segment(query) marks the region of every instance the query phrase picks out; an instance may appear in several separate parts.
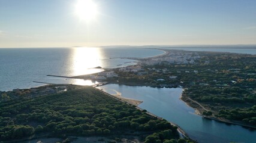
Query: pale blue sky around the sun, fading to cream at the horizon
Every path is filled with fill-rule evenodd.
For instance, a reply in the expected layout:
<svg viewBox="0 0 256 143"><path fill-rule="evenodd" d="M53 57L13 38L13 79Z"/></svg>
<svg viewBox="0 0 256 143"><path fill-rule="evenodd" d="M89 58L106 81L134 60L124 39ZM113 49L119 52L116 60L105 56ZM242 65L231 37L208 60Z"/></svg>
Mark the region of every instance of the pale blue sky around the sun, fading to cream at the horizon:
<svg viewBox="0 0 256 143"><path fill-rule="evenodd" d="M255 0L79 1L0 0L0 48L256 44Z"/></svg>

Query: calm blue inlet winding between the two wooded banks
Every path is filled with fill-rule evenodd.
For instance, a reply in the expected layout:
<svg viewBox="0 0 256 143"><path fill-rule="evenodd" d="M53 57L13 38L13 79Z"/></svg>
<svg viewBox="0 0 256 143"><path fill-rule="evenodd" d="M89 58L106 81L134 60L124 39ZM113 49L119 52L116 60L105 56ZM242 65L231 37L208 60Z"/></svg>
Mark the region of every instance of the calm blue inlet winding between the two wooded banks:
<svg viewBox="0 0 256 143"><path fill-rule="evenodd" d="M179 125L189 137L200 143L256 142L256 130L204 119L180 100L181 88L150 88L109 84L100 87L110 94L143 101L138 107Z"/></svg>

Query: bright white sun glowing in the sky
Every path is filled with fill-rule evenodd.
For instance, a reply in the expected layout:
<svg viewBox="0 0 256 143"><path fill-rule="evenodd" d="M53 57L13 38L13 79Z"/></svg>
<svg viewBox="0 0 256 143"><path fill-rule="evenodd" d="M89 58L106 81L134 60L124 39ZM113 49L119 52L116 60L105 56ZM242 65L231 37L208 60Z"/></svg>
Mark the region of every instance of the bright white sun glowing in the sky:
<svg viewBox="0 0 256 143"><path fill-rule="evenodd" d="M93 0L78 0L75 13L81 20L94 20L98 14L97 4Z"/></svg>

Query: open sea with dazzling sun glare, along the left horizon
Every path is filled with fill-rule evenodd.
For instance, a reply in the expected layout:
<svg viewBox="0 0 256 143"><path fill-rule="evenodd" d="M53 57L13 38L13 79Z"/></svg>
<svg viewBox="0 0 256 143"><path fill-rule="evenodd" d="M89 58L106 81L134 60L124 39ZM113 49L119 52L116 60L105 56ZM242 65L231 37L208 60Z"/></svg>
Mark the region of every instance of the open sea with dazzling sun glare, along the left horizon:
<svg viewBox="0 0 256 143"><path fill-rule="evenodd" d="M122 60L120 57L152 57L163 53L156 49L139 48L0 48L0 91L43 85L33 81L88 85L91 84L89 80L46 75L78 76L94 73L100 70L90 68L135 64L134 60Z"/></svg>

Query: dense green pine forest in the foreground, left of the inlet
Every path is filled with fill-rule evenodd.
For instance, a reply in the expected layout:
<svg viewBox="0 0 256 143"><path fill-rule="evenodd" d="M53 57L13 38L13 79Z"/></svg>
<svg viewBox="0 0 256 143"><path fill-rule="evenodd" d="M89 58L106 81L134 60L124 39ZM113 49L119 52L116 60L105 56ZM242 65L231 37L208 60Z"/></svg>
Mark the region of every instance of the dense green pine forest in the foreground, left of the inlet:
<svg viewBox="0 0 256 143"><path fill-rule="evenodd" d="M67 92L0 102L0 140L31 135L108 136L143 132L146 142L179 139L177 127L115 100L92 87L69 86ZM156 136L156 138L152 138Z"/></svg>

